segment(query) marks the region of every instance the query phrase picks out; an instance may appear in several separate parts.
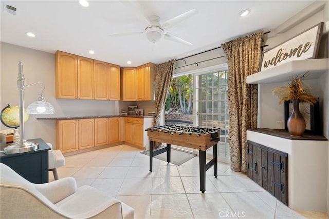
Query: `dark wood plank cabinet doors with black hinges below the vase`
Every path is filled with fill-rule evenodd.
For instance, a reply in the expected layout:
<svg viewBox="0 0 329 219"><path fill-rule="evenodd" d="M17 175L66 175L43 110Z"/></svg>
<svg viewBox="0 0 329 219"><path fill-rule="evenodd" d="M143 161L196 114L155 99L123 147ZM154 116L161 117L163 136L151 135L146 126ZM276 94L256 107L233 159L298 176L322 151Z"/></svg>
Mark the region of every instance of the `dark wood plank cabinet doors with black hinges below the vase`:
<svg viewBox="0 0 329 219"><path fill-rule="evenodd" d="M288 154L247 141L247 175L288 205Z"/></svg>

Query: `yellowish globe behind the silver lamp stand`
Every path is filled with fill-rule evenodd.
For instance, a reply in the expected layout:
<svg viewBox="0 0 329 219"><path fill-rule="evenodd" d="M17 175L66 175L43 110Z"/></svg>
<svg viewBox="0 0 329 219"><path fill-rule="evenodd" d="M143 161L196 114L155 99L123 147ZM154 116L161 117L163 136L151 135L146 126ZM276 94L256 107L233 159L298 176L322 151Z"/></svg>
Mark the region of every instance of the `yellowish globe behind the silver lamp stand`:
<svg viewBox="0 0 329 219"><path fill-rule="evenodd" d="M20 127L20 107L19 106L6 106L0 115L1 122L9 128ZM29 114L27 114L24 109L24 123L29 119Z"/></svg>

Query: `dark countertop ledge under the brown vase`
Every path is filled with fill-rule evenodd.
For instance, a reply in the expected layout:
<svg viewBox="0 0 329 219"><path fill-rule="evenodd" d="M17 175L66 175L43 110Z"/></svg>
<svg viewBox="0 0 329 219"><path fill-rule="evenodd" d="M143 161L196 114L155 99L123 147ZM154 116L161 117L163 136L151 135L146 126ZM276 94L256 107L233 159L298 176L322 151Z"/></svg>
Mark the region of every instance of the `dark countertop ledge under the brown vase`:
<svg viewBox="0 0 329 219"><path fill-rule="evenodd" d="M327 139L322 135L312 135L307 133L304 133L302 137L293 137L290 136L288 130L284 130L284 129L258 128L258 129L248 129L248 131L259 132L259 133L282 137L290 140L327 141Z"/></svg>

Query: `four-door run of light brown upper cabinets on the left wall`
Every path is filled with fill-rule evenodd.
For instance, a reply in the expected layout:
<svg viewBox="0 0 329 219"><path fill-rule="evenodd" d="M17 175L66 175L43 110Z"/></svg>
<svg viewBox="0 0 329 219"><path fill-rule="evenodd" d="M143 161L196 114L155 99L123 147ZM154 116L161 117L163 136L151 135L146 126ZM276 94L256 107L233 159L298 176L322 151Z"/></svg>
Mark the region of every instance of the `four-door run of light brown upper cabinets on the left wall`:
<svg viewBox="0 0 329 219"><path fill-rule="evenodd" d="M56 52L56 98L120 100L120 66Z"/></svg>

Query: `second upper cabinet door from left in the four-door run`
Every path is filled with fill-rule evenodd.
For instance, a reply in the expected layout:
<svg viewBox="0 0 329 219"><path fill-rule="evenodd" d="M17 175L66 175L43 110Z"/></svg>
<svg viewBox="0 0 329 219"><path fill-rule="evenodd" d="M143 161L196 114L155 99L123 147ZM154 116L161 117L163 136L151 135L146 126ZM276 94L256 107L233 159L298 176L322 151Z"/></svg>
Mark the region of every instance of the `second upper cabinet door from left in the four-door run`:
<svg viewBox="0 0 329 219"><path fill-rule="evenodd" d="M78 56L78 98L94 99L94 60Z"/></svg>

